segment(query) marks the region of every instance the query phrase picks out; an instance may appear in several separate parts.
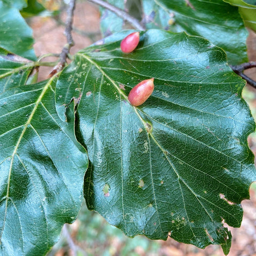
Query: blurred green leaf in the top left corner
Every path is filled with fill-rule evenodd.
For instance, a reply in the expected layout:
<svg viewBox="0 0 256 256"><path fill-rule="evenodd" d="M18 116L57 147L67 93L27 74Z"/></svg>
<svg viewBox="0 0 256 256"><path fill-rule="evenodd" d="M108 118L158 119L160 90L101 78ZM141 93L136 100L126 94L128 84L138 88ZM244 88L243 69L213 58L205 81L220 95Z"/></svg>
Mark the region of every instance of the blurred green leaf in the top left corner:
<svg viewBox="0 0 256 256"><path fill-rule="evenodd" d="M17 9L7 7L1 1L0 27L0 47L21 57L36 60L32 29Z"/></svg>

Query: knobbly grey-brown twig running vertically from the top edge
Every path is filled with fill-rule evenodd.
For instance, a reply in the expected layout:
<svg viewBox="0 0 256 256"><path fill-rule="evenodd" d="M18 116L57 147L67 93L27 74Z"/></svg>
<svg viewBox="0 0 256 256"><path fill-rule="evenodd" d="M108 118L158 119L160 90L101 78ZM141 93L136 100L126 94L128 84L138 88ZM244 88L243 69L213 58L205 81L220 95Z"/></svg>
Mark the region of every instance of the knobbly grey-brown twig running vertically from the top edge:
<svg viewBox="0 0 256 256"><path fill-rule="evenodd" d="M63 47L62 52L60 53L60 65L62 66L62 68L66 64L66 60L67 60L67 56L70 48L74 45L71 31L72 31L72 25L73 25L75 3L76 3L76 0L70 0L68 10L67 10L67 20L66 20L66 28L65 28L67 44Z"/></svg>

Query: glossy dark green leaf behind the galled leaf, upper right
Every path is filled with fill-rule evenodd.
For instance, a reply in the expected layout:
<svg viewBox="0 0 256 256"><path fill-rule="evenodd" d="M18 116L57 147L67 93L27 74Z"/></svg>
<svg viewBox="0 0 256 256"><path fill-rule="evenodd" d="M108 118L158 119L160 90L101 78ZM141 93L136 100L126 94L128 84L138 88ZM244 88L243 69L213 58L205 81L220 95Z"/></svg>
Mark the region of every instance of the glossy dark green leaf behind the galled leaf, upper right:
<svg viewBox="0 0 256 256"><path fill-rule="evenodd" d="M231 65L247 61L248 33L237 7L222 0L143 0L142 3L148 28L202 36L225 50Z"/></svg>

